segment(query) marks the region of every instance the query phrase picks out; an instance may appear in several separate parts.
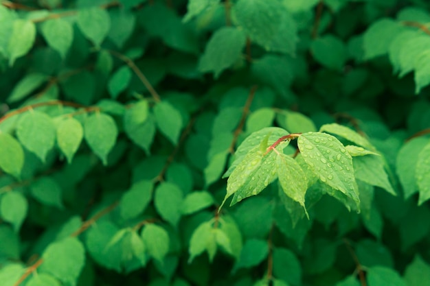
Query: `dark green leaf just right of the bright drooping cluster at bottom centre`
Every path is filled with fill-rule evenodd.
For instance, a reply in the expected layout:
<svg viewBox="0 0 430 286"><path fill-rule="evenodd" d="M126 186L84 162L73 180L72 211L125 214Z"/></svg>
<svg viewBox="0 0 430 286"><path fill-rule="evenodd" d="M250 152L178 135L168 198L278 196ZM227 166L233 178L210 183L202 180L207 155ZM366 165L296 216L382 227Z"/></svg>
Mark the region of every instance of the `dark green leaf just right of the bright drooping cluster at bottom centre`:
<svg viewBox="0 0 430 286"><path fill-rule="evenodd" d="M267 241L261 239L248 239L240 253L240 259L236 262L233 272L240 268L250 268L260 264L269 254Z"/></svg>

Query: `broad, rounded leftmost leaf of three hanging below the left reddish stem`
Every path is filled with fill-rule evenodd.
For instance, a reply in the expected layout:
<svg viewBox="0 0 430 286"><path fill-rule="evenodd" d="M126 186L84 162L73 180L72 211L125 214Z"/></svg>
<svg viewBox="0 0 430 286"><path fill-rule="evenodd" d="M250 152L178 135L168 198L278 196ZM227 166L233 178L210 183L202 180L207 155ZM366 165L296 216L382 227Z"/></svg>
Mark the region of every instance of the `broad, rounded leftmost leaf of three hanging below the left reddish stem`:
<svg viewBox="0 0 430 286"><path fill-rule="evenodd" d="M25 112L16 125L19 141L42 162L45 162L47 153L54 147L55 135L56 128L51 117L36 110Z"/></svg>

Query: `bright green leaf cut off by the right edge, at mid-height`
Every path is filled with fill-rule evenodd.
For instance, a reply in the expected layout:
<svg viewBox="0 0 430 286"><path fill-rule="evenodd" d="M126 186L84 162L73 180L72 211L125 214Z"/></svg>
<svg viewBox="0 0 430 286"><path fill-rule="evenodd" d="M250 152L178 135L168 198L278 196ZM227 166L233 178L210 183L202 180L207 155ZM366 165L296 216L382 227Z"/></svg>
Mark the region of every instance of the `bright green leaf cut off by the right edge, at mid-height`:
<svg viewBox="0 0 430 286"><path fill-rule="evenodd" d="M427 143L418 154L415 178L420 192L418 205L421 205L430 199L430 143Z"/></svg>

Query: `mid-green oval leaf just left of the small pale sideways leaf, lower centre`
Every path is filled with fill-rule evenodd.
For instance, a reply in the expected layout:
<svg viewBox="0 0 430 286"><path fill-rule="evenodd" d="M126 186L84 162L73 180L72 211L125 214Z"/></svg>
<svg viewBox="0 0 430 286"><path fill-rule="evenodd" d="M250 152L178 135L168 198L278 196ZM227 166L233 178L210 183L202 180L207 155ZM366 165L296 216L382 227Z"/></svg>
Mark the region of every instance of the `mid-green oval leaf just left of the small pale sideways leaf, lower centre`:
<svg viewBox="0 0 430 286"><path fill-rule="evenodd" d="M163 219L177 226L181 219L181 205L183 193L176 184L163 182L155 190L154 204L157 212Z"/></svg>

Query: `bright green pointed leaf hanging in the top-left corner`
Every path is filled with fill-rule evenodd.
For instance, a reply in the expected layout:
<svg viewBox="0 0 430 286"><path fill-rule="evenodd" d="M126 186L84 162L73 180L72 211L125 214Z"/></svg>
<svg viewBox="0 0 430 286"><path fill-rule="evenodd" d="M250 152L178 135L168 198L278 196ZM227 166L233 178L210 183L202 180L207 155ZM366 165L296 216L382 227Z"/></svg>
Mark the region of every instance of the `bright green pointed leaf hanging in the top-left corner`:
<svg viewBox="0 0 430 286"><path fill-rule="evenodd" d="M32 21L16 19L12 26L12 35L8 43L9 65L24 56L33 47L36 38L36 26Z"/></svg>

